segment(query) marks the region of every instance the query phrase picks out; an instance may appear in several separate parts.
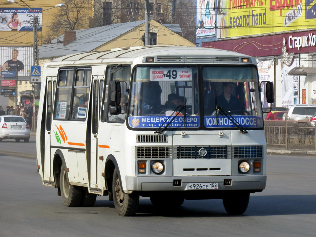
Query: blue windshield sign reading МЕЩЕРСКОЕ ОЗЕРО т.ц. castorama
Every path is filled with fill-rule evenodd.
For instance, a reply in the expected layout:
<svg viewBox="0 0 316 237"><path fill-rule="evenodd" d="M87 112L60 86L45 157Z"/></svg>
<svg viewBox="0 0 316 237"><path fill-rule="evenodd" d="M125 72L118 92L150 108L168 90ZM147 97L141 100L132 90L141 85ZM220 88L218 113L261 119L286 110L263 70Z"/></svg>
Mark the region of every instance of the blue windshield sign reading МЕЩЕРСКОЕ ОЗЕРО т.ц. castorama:
<svg viewBox="0 0 316 237"><path fill-rule="evenodd" d="M173 117L169 116L137 116L129 117L128 124L133 128L159 128L167 126L167 124L172 120ZM165 123L164 123L165 122ZM185 123L184 123L185 122ZM168 126L168 128L178 128L178 127L198 127L199 126L199 116L184 116L178 115L173 122Z"/></svg>

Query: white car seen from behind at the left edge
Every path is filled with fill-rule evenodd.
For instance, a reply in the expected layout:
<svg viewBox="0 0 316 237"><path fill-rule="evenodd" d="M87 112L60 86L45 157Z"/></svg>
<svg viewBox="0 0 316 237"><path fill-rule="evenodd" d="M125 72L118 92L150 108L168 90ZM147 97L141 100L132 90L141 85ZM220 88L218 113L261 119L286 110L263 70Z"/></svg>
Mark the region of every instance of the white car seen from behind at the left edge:
<svg viewBox="0 0 316 237"><path fill-rule="evenodd" d="M15 142L30 140L30 125L22 116L2 115L0 116L0 142L3 139L15 139Z"/></svg>

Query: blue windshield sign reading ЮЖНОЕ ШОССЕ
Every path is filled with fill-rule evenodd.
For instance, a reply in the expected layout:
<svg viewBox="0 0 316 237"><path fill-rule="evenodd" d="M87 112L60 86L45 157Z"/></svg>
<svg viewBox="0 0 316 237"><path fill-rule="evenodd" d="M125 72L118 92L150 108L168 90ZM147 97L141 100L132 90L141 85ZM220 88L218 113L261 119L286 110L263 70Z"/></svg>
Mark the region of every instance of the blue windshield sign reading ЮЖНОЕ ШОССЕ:
<svg viewBox="0 0 316 237"><path fill-rule="evenodd" d="M262 127L263 122L262 118L259 116L232 116L237 122L243 127L258 128ZM232 121L230 121L225 116L204 116L204 125L207 128L216 128L216 127L236 127Z"/></svg>

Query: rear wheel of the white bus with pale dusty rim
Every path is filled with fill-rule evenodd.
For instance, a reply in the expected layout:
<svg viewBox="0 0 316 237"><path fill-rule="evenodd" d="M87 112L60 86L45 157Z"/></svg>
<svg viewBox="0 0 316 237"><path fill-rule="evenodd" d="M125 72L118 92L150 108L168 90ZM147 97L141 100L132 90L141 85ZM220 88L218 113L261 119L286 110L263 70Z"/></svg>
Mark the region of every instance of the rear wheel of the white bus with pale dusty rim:
<svg viewBox="0 0 316 237"><path fill-rule="evenodd" d="M60 169L60 192L66 207L79 207L82 200L82 188L69 183L64 165Z"/></svg>

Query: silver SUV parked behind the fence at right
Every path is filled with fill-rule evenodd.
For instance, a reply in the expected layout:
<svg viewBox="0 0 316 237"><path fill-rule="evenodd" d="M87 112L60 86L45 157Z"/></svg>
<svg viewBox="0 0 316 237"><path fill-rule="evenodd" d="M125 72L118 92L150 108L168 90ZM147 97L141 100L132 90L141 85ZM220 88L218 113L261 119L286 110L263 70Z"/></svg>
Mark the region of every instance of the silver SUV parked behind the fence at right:
<svg viewBox="0 0 316 237"><path fill-rule="evenodd" d="M316 113L316 105L292 105L285 120L309 121Z"/></svg>

